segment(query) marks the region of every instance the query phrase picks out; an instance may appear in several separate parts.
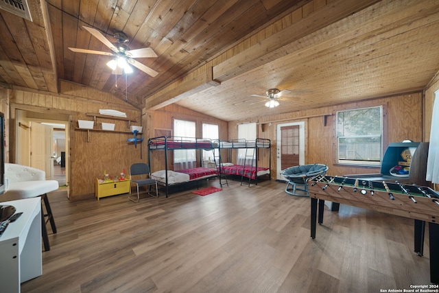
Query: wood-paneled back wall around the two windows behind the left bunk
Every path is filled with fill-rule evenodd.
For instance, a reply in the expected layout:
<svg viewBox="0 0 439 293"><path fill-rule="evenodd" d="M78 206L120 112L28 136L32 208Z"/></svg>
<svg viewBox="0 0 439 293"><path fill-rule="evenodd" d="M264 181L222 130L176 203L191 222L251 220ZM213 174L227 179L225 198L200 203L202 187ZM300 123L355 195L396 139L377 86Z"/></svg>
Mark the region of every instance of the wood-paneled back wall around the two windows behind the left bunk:
<svg viewBox="0 0 439 293"><path fill-rule="evenodd" d="M187 121L195 121L195 131L197 137L202 137L202 124L217 124L219 128L219 139L226 140L228 139L228 123L226 121L216 119L214 117L204 115L202 113L195 112L193 110L189 110L187 108L183 108L176 104L171 104L169 106L165 106L160 110L148 110L147 111L147 137L158 137L162 135L173 135L172 126L174 123L174 119L182 119ZM145 148L147 147L147 143L145 143ZM147 150L146 150L147 152ZM226 156L226 152L222 153L223 156ZM171 152L168 154L169 158L171 158ZM168 169L174 169L171 164L171 159L168 161ZM164 152L155 151L151 154L151 169L152 172L165 169L165 156Z"/></svg>

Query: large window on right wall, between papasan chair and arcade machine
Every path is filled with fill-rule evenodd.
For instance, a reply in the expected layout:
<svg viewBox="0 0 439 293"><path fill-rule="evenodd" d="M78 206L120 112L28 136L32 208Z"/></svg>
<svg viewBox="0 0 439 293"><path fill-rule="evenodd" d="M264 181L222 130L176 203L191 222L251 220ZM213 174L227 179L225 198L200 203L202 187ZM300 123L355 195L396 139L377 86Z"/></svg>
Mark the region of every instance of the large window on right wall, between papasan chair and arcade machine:
<svg viewBox="0 0 439 293"><path fill-rule="evenodd" d="M381 106L337 112L338 163L380 165Z"/></svg>

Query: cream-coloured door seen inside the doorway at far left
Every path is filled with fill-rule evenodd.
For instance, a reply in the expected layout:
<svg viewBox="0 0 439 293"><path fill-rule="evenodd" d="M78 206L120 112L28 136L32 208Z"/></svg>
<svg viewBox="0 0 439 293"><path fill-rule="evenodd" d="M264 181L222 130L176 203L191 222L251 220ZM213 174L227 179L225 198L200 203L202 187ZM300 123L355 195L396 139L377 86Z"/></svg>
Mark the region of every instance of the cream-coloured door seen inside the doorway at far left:
<svg viewBox="0 0 439 293"><path fill-rule="evenodd" d="M33 122L30 129L31 167L45 171L46 178L50 178L54 168L51 159L51 141L54 128Z"/></svg>

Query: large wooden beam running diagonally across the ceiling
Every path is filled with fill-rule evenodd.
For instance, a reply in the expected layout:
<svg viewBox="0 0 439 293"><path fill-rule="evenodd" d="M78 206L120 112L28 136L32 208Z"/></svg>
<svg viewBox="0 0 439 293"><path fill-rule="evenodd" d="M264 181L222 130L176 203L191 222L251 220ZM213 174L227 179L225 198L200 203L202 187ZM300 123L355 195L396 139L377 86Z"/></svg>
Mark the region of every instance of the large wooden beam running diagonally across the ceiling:
<svg viewBox="0 0 439 293"><path fill-rule="evenodd" d="M197 70L195 70L184 78L180 78L166 86L165 89L147 97L145 108L147 110L157 110L163 106L178 102L185 97L209 89L213 85L216 86L221 82L235 78L237 75L246 73L265 63L272 62L285 55L286 45L294 43L296 40L336 21L340 21L346 16L359 12L378 1L335 1L331 5L319 8L311 14L300 11L300 16L302 17L302 14L305 13L306 17L294 23L294 34L292 34L291 23L287 27L283 27L283 29L279 29L276 26L278 23L274 23L229 49L230 55L223 54L223 56L230 56L230 58L228 57L224 62L220 62L210 69L207 65L204 65L203 67L207 69L206 72L211 72L211 76L198 75L196 74ZM302 7L298 8L298 10L302 10ZM254 42L255 38L260 40ZM248 46L249 42L251 44L250 47ZM246 49L239 50L239 47L245 47ZM220 58L222 56L219 56L217 60Z"/></svg>

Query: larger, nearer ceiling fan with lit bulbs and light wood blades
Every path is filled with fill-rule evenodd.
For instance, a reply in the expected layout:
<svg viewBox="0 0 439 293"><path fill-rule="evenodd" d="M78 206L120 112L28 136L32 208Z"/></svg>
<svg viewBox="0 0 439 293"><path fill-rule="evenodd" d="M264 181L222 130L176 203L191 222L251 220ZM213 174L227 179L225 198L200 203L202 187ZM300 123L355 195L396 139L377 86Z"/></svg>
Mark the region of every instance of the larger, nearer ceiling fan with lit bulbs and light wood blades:
<svg viewBox="0 0 439 293"><path fill-rule="evenodd" d="M152 77L158 75L157 71L154 71L150 67L143 65L141 62L135 60L134 58L154 58L157 57L157 54L150 47L134 49L130 50L125 43L128 42L128 38L123 32L116 32L115 38L117 43L114 45L108 40L103 34L101 34L98 30L95 30L92 27L83 26L84 30L95 36L98 40L100 40L104 45L110 48L111 52L105 51L95 51L89 49L80 49L80 48L71 48L71 51L75 53L86 53L86 54L98 54L98 55L106 55L106 56L114 56L112 60L110 60L107 65L112 69L113 74L121 74L122 70L125 73L132 73L132 68L130 65L137 67L141 71L151 75Z"/></svg>

